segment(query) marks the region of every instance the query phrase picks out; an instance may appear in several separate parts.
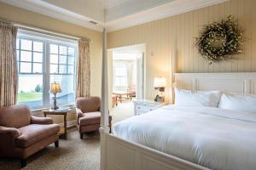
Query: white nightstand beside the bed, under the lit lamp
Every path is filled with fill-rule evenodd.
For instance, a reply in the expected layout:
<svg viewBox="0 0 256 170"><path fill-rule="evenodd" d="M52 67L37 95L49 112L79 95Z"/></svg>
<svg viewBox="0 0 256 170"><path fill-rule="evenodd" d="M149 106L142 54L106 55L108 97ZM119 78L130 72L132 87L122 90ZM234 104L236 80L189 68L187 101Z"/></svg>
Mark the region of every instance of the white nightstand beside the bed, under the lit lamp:
<svg viewBox="0 0 256 170"><path fill-rule="evenodd" d="M149 99L138 99L133 101L134 104L134 115L142 115L148 111L154 111L166 103L155 102L154 100Z"/></svg>

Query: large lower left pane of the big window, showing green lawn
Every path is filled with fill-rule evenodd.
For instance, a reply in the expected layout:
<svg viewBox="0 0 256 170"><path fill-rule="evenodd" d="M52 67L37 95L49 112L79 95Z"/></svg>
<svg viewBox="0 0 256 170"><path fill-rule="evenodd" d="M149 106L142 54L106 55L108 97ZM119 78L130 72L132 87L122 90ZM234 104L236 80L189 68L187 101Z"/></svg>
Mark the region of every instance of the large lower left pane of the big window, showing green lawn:
<svg viewBox="0 0 256 170"><path fill-rule="evenodd" d="M19 75L18 104L31 108L43 105L42 75Z"/></svg>

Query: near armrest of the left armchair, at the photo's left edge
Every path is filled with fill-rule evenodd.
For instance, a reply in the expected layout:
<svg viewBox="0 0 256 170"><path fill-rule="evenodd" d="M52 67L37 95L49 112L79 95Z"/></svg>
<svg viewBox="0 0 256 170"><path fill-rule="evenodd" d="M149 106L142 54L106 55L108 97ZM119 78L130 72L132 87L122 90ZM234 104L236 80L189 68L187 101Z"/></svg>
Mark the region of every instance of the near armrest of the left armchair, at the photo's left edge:
<svg viewBox="0 0 256 170"><path fill-rule="evenodd" d="M17 128L0 126L0 157L14 156L15 139L19 136Z"/></svg>

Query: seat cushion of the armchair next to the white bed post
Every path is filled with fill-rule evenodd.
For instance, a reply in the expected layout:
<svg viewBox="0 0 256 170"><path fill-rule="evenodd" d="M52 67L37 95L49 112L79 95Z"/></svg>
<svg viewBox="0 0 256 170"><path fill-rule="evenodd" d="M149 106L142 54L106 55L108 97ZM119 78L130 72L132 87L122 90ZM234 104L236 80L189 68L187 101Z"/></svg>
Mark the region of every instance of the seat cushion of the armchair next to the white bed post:
<svg viewBox="0 0 256 170"><path fill-rule="evenodd" d="M112 121L112 116L109 116L109 122ZM94 111L89 113L84 113L84 116L79 118L79 125L80 126L87 126L87 125L95 125L101 123L101 112Z"/></svg>

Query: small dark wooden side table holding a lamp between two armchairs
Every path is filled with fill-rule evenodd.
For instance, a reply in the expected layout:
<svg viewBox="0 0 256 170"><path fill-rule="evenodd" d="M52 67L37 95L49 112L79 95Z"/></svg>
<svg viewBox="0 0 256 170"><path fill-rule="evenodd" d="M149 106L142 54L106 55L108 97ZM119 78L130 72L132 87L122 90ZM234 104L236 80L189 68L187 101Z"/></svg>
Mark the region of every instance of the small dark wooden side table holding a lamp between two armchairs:
<svg viewBox="0 0 256 170"><path fill-rule="evenodd" d="M44 117L48 115L61 115L64 117L64 126L61 127L60 131L60 136L63 136L65 139L67 138L67 112L71 111L71 109L58 109L58 110L53 110L53 109L46 109L43 110Z"/></svg>

